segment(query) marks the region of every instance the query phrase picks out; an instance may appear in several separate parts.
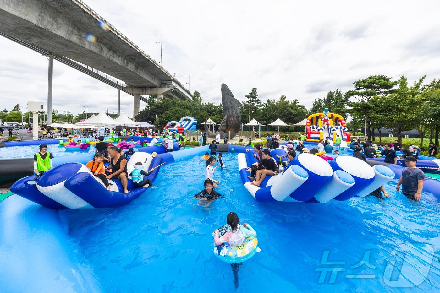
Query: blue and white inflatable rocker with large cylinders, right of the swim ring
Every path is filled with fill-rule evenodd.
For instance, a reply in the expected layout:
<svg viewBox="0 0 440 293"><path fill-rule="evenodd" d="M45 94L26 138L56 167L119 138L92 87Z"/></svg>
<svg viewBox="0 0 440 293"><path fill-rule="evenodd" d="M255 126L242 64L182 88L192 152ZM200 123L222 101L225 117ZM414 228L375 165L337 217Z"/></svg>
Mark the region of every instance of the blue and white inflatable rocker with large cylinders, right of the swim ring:
<svg viewBox="0 0 440 293"><path fill-rule="evenodd" d="M285 151L271 150L271 155ZM260 186L251 184L247 168L255 163L255 152L238 154L238 169L242 182L257 201L303 201L326 203L331 199L348 200L364 197L392 180L394 172L385 166L371 167L351 156L335 157L330 164L313 154L299 154L276 176L266 177Z"/></svg>

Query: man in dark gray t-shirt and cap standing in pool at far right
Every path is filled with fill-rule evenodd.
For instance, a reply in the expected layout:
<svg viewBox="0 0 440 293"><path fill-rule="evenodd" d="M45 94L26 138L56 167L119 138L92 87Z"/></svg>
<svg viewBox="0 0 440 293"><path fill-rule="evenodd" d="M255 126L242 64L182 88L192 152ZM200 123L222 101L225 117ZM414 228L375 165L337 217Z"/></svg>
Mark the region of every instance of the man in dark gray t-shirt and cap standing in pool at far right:
<svg viewBox="0 0 440 293"><path fill-rule="evenodd" d="M414 199L416 201L420 200L423 183L425 183L425 173L417 168L417 159L412 156L405 158L405 164L407 168L402 171L402 177L397 183L396 190L400 190L400 185L402 185L402 193L407 196L407 198Z"/></svg>

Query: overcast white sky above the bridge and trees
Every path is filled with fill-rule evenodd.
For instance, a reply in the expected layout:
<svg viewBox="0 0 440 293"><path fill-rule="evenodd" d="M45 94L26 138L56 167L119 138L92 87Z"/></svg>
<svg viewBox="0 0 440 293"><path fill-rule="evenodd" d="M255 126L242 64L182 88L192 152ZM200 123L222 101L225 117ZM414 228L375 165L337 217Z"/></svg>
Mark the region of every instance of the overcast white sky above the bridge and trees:
<svg viewBox="0 0 440 293"><path fill-rule="evenodd" d="M225 83L240 101L256 87L262 101L284 94L310 108L328 90L345 92L369 75L440 77L438 1L85 3L157 61L155 42L163 41L164 68L183 84L190 75L191 92L204 102L219 103ZM46 57L3 37L0 52L1 108L46 103ZM132 99L121 92L128 116ZM54 61L53 108L77 114L79 105L115 113L117 89Z"/></svg>

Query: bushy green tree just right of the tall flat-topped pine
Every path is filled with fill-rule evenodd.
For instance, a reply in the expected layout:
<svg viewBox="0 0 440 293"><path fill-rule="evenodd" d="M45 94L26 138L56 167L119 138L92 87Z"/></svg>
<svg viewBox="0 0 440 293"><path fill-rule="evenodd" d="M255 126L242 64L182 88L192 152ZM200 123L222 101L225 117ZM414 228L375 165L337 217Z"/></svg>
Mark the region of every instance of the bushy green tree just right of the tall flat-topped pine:
<svg viewBox="0 0 440 293"><path fill-rule="evenodd" d="M426 75L417 82L414 81L413 86L408 87L407 78L401 76L396 92L378 99L378 106L386 111L385 126L396 133L399 143L402 143L402 131L410 130L415 126L414 121L419 114L414 110L417 109L419 100L414 97L420 95L425 77Z"/></svg>

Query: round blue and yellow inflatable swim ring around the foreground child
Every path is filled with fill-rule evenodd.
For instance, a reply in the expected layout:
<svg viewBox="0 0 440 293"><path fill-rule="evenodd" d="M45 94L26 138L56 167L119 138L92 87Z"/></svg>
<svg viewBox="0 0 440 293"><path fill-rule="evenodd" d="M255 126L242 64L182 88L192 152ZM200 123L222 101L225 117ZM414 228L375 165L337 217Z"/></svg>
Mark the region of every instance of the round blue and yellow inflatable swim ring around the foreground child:
<svg viewBox="0 0 440 293"><path fill-rule="evenodd" d="M228 230L230 230L229 226L220 227L219 236L223 236ZM215 235L213 233L213 237L214 236ZM227 263L241 263L249 260L249 258L251 258L255 253L260 252L257 237L247 237L245 242L237 246L229 246L225 243L215 245L213 239L212 248L214 254L220 260L223 260Z"/></svg>

